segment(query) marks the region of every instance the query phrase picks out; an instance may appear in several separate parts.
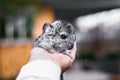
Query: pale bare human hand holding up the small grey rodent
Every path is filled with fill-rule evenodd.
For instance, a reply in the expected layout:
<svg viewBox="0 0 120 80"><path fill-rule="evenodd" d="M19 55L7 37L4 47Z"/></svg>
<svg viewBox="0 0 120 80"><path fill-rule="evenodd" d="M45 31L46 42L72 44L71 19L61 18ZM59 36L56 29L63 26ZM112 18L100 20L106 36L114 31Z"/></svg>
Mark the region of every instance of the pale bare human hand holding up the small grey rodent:
<svg viewBox="0 0 120 80"><path fill-rule="evenodd" d="M31 51L30 62L34 60L51 60L57 64L62 72L68 69L76 57L76 42L72 50L69 50L67 54L62 53L49 53L48 51L42 48L33 48Z"/></svg>

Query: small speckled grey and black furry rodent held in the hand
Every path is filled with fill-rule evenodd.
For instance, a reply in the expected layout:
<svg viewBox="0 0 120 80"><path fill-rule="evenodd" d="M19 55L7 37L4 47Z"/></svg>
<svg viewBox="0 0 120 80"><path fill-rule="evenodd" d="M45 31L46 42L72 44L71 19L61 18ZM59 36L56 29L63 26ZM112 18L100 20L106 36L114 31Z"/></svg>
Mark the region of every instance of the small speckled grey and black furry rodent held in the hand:
<svg viewBox="0 0 120 80"><path fill-rule="evenodd" d="M75 40L75 29L72 24L56 20L43 25L43 33L38 37L34 46L45 48L50 52L65 53L66 50L73 48Z"/></svg>

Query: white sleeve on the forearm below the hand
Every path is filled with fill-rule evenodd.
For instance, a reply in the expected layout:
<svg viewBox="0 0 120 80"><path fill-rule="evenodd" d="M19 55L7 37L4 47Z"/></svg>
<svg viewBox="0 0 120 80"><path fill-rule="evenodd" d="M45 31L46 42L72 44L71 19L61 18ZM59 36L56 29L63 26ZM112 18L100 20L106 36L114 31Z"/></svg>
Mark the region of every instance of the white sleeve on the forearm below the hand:
<svg viewBox="0 0 120 80"><path fill-rule="evenodd" d="M49 60L35 60L21 68L16 80L60 80L60 67Z"/></svg>

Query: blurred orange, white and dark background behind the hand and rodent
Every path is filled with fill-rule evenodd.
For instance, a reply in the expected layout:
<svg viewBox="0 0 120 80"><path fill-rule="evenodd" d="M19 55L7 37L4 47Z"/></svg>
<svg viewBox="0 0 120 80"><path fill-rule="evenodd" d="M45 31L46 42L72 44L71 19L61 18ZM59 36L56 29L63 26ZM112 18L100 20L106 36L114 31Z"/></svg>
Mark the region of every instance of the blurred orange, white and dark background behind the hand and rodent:
<svg viewBox="0 0 120 80"><path fill-rule="evenodd" d="M77 58L64 80L120 80L120 0L0 0L0 80L14 80L44 23L71 22Z"/></svg>

